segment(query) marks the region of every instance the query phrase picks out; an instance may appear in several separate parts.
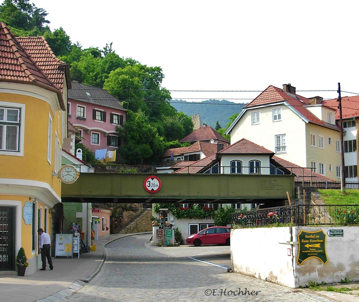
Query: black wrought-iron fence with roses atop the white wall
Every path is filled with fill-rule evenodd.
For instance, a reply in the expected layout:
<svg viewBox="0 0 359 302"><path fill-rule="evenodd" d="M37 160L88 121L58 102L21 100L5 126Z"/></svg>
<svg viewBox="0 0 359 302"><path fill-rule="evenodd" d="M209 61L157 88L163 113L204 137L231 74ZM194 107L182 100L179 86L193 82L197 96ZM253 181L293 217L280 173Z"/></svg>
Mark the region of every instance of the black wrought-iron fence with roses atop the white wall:
<svg viewBox="0 0 359 302"><path fill-rule="evenodd" d="M359 205L292 205L238 211L232 228L257 226L359 225Z"/></svg>

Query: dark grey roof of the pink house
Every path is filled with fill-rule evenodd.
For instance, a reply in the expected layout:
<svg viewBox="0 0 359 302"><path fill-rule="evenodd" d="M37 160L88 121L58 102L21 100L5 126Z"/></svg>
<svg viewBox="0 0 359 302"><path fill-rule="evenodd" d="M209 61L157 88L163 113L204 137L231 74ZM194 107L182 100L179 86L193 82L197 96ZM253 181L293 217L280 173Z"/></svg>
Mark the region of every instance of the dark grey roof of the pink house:
<svg viewBox="0 0 359 302"><path fill-rule="evenodd" d="M72 81L72 88L68 90L67 97L95 105L105 106L118 110L124 109L116 97L109 94L106 90Z"/></svg>

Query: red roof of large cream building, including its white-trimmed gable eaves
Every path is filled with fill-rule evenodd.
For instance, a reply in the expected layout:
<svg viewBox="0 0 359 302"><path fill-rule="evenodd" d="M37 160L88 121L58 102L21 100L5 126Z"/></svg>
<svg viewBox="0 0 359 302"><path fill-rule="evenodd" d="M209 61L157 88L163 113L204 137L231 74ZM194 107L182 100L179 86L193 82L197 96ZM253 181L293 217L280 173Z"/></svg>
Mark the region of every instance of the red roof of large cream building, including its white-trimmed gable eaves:
<svg viewBox="0 0 359 302"><path fill-rule="evenodd" d="M339 128L336 125L332 125L318 119L312 112L310 112L305 107L305 106L310 106L307 98L297 94L295 95L290 94L288 92L283 91L283 89L270 85L253 101L251 101L249 104L244 106L242 112L229 126L226 133L228 134L232 130L234 125L237 124L238 120L243 116L244 112L246 112L248 109L252 109L257 106L274 105L274 104L283 104L285 106L288 106L289 109L291 109L306 123L317 124L326 128L331 128L333 130L339 131Z"/></svg>

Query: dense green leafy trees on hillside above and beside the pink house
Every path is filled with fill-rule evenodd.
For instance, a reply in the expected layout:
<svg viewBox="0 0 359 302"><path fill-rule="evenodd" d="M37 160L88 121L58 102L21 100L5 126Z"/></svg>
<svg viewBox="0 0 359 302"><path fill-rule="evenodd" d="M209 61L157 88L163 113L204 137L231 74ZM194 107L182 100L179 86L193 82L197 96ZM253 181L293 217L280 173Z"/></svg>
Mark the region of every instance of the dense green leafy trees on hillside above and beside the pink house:
<svg viewBox="0 0 359 302"><path fill-rule="evenodd" d="M17 36L43 35L52 51L70 64L72 80L109 90L128 110L124 129L119 129L125 145L118 149L126 163L158 161L163 149L180 147L178 139L193 131L191 117L170 104L170 92L161 87L164 75L159 66L148 67L112 50L83 48L72 43L60 27L53 32L47 24L46 10L29 0L5 0L0 5L0 20Z"/></svg>

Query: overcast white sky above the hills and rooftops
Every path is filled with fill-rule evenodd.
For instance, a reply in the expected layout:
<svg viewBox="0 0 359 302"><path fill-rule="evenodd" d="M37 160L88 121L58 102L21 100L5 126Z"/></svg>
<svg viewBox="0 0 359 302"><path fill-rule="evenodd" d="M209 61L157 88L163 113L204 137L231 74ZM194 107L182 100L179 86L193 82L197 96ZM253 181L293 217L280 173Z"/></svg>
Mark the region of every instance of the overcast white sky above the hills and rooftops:
<svg viewBox="0 0 359 302"><path fill-rule="evenodd" d="M359 94L358 1L30 2L72 42L85 48L113 42L119 56L162 67L162 86L169 90L264 90L284 83L297 91L336 90L340 82L342 91ZM259 92L171 94L190 101Z"/></svg>

